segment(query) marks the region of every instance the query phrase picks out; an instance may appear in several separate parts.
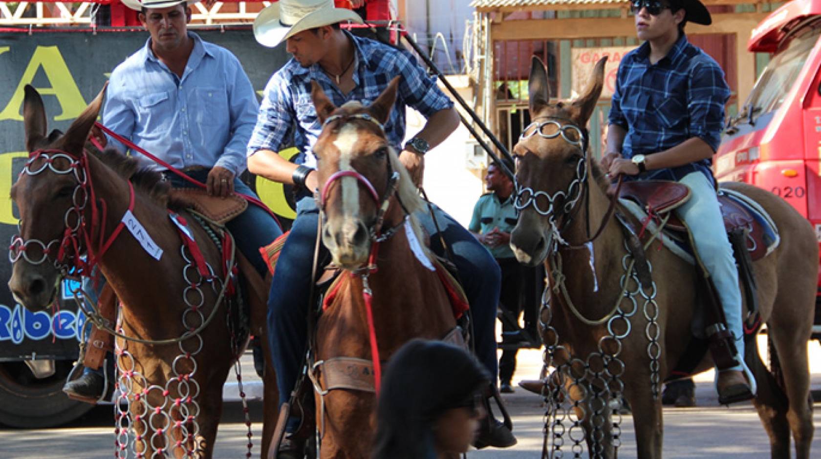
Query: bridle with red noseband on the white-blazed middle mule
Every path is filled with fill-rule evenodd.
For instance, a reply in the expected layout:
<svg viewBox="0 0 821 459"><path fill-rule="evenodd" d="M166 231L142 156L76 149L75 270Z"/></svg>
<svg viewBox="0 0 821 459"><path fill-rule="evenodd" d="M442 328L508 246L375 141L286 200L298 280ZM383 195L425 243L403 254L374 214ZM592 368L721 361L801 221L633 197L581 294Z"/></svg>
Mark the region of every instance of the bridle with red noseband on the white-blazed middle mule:
<svg viewBox="0 0 821 459"><path fill-rule="evenodd" d="M367 113L355 113L352 115L339 114L329 116L328 119L325 120L325 122L323 123L323 129L334 121L340 121L341 125L344 125L348 120L369 121L370 123L373 123L378 127L379 132L382 133L383 136L385 134L385 130L382 123L380 123L373 116L370 116ZM382 229L385 212L387 212L388 207L390 207L391 196L394 193L396 193L397 185L399 184L399 172L393 170L390 158L386 157L385 163L386 167L388 168L388 184L385 187L385 192L382 194L382 196L379 196L379 193L377 193L374 184L371 184L370 180L368 180L367 177L365 177L365 175L360 174L356 170L339 170L333 173L333 175L331 175L330 177L328 177L328 180L325 181L325 184L323 185L321 193L319 195L319 211L322 216L321 220L324 220L325 205L328 202L328 194L331 191L332 185L338 180L342 180L343 177L352 177L356 180L357 184L360 184L361 187L368 192L368 196L374 200L374 203L378 208L376 220L374 220L374 223L372 225L369 225L368 227L368 234L370 240L373 243L380 243L389 239L394 233L396 233L397 230L401 227L401 223L399 225L389 228L388 230L383 231ZM401 201L400 205L403 209L405 208L405 206L401 204ZM405 210L405 213L407 215L407 210ZM404 222L404 219L402 221Z"/></svg>

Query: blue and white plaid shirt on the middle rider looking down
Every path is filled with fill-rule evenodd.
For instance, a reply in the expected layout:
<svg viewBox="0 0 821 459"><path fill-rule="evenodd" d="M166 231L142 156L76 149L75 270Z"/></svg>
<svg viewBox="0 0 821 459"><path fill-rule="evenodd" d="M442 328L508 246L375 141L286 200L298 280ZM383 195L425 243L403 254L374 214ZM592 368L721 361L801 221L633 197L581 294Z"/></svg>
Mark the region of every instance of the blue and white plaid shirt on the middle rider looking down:
<svg viewBox="0 0 821 459"><path fill-rule="evenodd" d="M248 156L261 149L277 152L289 147L293 134L293 144L300 149L297 164L316 166L314 155L305 154L313 148L322 131L314 102L310 98L311 80L316 80L331 102L340 107L351 101L365 105L374 102L393 77L401 75L397 102L385 123L388 140L397 150L401 149L401 142L405 139L406 106L414 107L425 118L453 107L453 102L438 89L436 81L416 64L415 58L410 54L374 40L346 34L356 49L354 89L344 94L319 64L304 68L291 59L273 74L265 87L257 124L248 143Z"/></svg>

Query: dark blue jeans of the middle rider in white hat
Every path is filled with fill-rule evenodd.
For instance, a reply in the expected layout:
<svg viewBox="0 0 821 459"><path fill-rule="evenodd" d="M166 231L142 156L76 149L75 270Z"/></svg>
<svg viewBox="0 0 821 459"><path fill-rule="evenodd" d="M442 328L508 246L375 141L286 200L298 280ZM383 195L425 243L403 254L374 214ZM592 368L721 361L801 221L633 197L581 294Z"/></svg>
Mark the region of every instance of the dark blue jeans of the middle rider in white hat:
<svg viewBox="0 0 821 459"><path fill-rule="evenodd" d="M443 237L452 248L453 262L459 270L462 287L470 302L476 356L495 380L496 303L501 274L490 252L473 234L456 223L438 207L437 221ZM431 235L431 249L443 255L444 248L429 213L418 215L420 224ZM268 339L277 370L280 404L287 402L296 386L308 346L308 302L314 244L317 238L319 210L314 198L302 198L296 204L296 219L282 248L268 297ZM328 249L319 244L319 260L329 257ZM289 425L292 427L293 425Z"/></svg>

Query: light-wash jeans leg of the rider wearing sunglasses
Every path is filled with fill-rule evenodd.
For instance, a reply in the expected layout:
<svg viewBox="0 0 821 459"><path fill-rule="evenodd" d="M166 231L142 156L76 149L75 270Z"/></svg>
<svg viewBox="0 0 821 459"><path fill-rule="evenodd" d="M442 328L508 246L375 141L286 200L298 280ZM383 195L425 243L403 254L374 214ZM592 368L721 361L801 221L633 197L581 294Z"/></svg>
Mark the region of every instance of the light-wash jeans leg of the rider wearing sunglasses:
<svg viewBox="0 0 821 459"><path fill-rule="evenodd" d="M715 189L707 176L701 172L686 175L681 179L681 183L689 186L692 194L690 200L677 209L678 216L690 228L695 250L713 280L727 320L727 329L732 332L736 344L736 359L741 362L741 365L722 370L745 370L738 270L732 255L732 246L727 240Z"/></svg>

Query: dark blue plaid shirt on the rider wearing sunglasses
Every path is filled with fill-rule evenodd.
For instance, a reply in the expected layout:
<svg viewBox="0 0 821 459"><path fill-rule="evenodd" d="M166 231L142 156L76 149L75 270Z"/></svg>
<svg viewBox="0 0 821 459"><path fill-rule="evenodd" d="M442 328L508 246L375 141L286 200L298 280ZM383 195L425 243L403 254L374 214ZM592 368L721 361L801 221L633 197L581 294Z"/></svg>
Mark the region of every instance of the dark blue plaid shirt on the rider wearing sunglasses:
<svg viewBox="0 0 821 459"><path fill-rule="evenodd" d="M673 148L687 139L704 140L718 148L724 123L724 104L730 89L718 62L696 48L684 34L655 64L649 43L628 52L618 67L609 122L627 131L621 156L649 155ZM699 170L713 180L712 160L670 169L649 170L639 179L681 180Z"/></svg>

